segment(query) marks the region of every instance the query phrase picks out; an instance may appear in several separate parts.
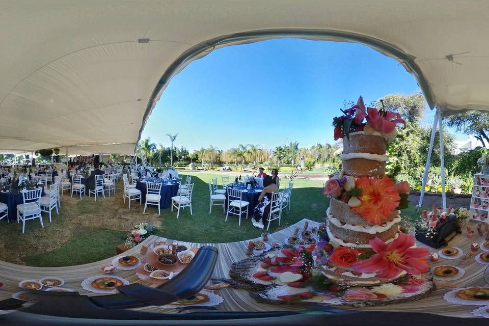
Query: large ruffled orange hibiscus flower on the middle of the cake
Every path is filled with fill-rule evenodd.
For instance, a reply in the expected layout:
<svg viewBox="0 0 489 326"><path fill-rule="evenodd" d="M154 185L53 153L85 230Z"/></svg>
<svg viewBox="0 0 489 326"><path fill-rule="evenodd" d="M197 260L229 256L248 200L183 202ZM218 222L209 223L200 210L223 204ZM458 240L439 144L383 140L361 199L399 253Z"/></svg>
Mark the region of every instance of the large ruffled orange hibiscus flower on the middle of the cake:
<svg viewBox="0 0 489 326"><path fill-rule="evenodd" d="M351 211L359 213L372 225L385 223L401 200L394 181L386 176L373 179L360 177L355 184L362 189L359 197L361 204L351 208Z"/></svg>

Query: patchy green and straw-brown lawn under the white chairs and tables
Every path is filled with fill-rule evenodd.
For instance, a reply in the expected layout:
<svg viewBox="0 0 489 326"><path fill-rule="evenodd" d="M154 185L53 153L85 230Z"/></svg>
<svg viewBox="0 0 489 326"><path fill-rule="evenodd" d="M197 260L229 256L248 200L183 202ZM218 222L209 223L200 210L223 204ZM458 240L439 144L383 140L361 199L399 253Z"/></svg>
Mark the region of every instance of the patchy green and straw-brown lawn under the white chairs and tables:
<svg viewBox="0 0 489 326"><path fill-rule="evenodd" d="M52 223L43 214L44 228L39 221L28 221L25 234L21 225L6 219L0 221L0 260L30 266L69 266L98 261L115 255L118 244L133 225L140 222L153 223L157 235L191 242L231 242L260 236L263 232L242 219L238 226L237 216L229 216L225 222L222 209L212 207L209 214L209 188L207 182L218 178L219 172L185 172L192 176L194 186L193 216L189 210L176 212L162 209L161 216L156 207L150 206L143 215L143 206L127 202L123 204L122 183L116 185L116 197L99 199L62 196L60 215L54 213ZM229 175L229 174L226 174ZM286 228L303 218L322 222L328 200L322 195L324 180L294 179L291 211L270 224L269 232ZM282 179L281 188L288 184ZM413 220L419 216L415 206L402 211L402 216Z"/></svg>

